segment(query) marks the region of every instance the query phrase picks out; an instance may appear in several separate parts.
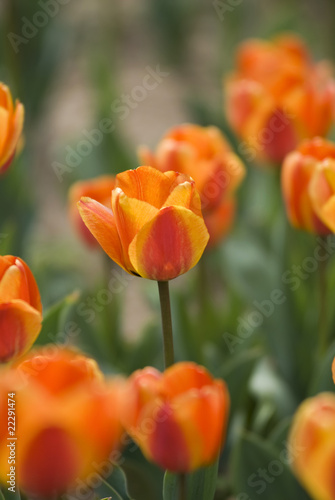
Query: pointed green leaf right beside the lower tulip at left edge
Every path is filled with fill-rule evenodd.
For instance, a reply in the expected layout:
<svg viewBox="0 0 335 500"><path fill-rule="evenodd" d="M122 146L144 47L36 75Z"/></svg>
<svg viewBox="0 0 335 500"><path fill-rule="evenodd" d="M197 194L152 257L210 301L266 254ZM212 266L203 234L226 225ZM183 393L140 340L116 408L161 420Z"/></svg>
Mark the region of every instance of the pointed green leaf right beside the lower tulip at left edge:
<svg viewBox="0 0 335 500"><path fill-rule="evenodd" d="M79 293L77 291L67 295L57 304L51 306L44 314L42 330L36 340L36 345L45 345L50 342L63 343L64 337L69 333L66 331L65 322L69 309L78 300ZM71 325L68 325L69 328ZM59 334L62 338L59 338Z"/></svg>

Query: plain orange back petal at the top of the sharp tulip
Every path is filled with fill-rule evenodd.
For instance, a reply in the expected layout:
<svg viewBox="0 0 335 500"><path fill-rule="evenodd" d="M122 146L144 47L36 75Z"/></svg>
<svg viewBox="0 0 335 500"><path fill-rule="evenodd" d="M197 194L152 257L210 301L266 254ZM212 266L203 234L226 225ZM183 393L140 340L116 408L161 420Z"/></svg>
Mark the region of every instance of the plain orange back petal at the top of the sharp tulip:
<svg viewBox="0 0 335 500"><path fill-rule="evenodd" d="M129 198L146 201L161 208L175 184L178 174L167 176L152 167L127 170L116 176L116 185Z"/></svg>

